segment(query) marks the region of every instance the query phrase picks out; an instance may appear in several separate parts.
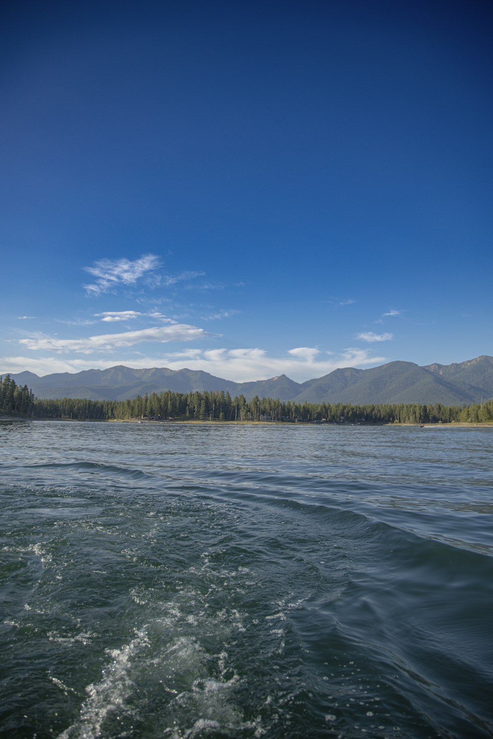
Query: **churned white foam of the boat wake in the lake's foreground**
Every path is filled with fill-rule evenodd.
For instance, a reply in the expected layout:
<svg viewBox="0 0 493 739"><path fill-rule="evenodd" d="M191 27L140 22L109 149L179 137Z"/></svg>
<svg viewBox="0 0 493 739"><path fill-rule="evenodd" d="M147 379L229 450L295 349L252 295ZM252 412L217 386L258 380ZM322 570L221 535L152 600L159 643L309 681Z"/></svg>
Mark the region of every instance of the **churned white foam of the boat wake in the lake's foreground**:
<svg viewBox="0 0 493 739"><path fill-rule="evenodd" d="M129 549L125 554L133 556L135 551ZM246 614L226 605L221 594L226 578L231 583L247 574L251 576L248 568L228 573L206 563L194 572L200 577L197 587L184 582L185 587L170 600L161 599L157 590L133 587L129 594L136 606L143 607L146 616L140 623L146 626L128 644L107 652L112 661L103 668L100 681L86 686L77 720L58 739L116 736L119 727L132 735L130 724L143 720L141 692L150 699L146 712L152 712L154 698L157 701L159 715L154 715L152 722L162 721L163 737L194 739L216 735L219 730L225 735L245 730L250 736L264 735L260 718L245 722L237 695L242 681L228 657L228 640L245 631ZM207 591L203 585L211 589ZM216 607L209 598L211 590ZM272 624L276 648L282 650L284 629L279 621L285 616L275 607L274 622L267 623ZM55 641L63 638L56 633L51 636ZM57 678L50 679L61 690L67 689L61 681L56 682Z"/></svg>

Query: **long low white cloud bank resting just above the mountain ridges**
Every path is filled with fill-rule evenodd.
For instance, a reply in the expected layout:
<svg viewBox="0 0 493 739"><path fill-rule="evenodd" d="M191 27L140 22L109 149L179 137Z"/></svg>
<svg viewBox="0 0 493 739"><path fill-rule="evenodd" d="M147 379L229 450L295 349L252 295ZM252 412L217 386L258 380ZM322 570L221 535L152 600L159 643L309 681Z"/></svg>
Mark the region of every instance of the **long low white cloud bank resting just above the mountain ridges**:
<svg viewBox="0 0 493 739"><path fill-rule="evenodd" d="M388 361L387 357L372 356L370 350L348 348L341 353L322 352L310 347L288 350L287 355L273 357L262 349L209 349L191 348L160 355L118 355L112 358L61 358L60 355L31 358L24 356L0 358L4 372L22 372L29 369L37 375L50 372L80 372L81 369L106 369L117 364L126 367L169 369L203 369L216 377L237 382L248 382L288 375L304 382L327 375L339 367L374 367Z"/></svg>

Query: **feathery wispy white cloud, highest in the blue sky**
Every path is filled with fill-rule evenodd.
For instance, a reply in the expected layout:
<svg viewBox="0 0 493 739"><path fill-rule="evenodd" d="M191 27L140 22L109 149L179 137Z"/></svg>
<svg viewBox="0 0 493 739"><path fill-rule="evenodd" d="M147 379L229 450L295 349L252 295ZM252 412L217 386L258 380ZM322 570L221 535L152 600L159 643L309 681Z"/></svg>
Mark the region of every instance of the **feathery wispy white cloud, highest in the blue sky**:
<svg viewBox="0 0 493 739"><path fill-rule="evenodd" d="M96 278L95 282L84 285L84 289L90 296L111 293L118 285L135 285L159 266L160 259L155 254L143 254L133 262L130 259L100 259L93 267L84 267Z"/></svg>

